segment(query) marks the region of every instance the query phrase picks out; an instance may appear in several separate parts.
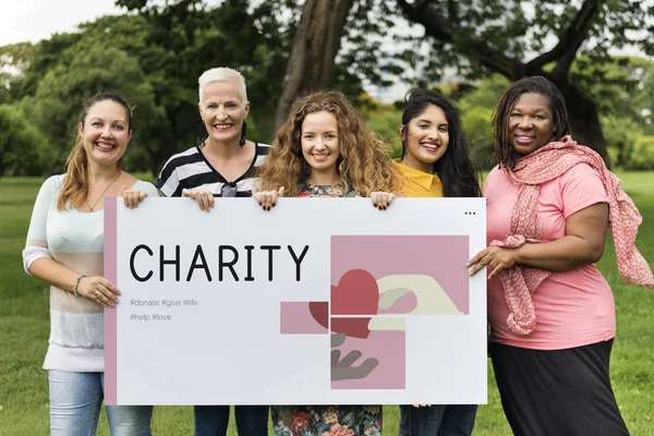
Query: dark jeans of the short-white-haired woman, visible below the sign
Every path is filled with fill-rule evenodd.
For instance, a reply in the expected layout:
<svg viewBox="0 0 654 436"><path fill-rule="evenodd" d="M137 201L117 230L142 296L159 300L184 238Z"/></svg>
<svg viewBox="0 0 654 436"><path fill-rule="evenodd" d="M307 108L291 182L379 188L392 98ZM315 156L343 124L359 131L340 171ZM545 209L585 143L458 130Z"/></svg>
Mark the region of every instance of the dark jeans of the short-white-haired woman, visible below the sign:
<svg viewBox="0 0 654 436"><path fill-rule="evenodd" d="M240 436L268 435L267 405L234 405ZM195 436L225 436L229 424L229 405L194 405Z"/></svg>

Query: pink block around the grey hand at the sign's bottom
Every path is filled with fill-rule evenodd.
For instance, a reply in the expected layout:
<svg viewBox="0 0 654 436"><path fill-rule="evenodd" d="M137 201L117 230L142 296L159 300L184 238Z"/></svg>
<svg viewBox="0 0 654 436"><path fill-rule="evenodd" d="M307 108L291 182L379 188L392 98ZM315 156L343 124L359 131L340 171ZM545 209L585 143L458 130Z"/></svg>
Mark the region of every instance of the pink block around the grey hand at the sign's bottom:
<svg viewBox="0 0 654 436"><path fill-rule="evenodd" d="M331 323L336 322L331 318ZM405 389L407 387L407 339L404 331L372 331L365 339L347 338L337 347L341 356L358 350L360 365L366 359L376 359L379 364L364 378L331 382L331 389ZM335 350L335 349L331 349Z"/></svg>

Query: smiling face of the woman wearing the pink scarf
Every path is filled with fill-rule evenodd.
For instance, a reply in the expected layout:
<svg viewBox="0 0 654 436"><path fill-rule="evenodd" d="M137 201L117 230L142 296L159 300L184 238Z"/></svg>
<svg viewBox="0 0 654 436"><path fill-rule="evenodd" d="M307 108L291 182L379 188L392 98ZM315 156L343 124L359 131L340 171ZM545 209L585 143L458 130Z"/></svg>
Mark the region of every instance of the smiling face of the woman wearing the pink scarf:
<svg viewBox="0 0 654 436"><path fill-rule="evenodd" d="M549 98L536 93L522 94L509 114L507 129L517 158L548 144L556 131Z"/></svg>

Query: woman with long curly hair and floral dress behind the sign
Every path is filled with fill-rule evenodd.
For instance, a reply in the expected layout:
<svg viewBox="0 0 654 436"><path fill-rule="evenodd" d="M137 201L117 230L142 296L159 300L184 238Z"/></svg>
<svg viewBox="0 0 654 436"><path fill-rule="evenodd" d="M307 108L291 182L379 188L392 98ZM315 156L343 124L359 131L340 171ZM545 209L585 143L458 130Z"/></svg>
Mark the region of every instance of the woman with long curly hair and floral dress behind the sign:
<svg viewBox="0 0 654 436"><path fill-rule="evenodd" d="M386 145L339 92L295 102L277 134L254 197L269 210L279 196L371 196L385 209L401 186ZM337 342L332 341L332 344ZM271 407L277 436L382 435L382 405Z"/></svg>

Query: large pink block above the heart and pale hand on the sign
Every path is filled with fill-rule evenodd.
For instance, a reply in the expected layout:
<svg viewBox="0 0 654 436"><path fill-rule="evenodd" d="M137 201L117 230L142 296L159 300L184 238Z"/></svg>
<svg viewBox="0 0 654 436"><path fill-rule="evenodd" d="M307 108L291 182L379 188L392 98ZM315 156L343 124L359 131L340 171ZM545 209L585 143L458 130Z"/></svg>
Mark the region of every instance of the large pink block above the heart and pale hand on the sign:
<svg viewBox="0 0 654 436"><path fill-rule="evenodd" d="M398 274L426 275L438 281L461 313L469 314L468 246L467 235L335 235L331 283L351 269L364 269L375 280Z"/></svg>

